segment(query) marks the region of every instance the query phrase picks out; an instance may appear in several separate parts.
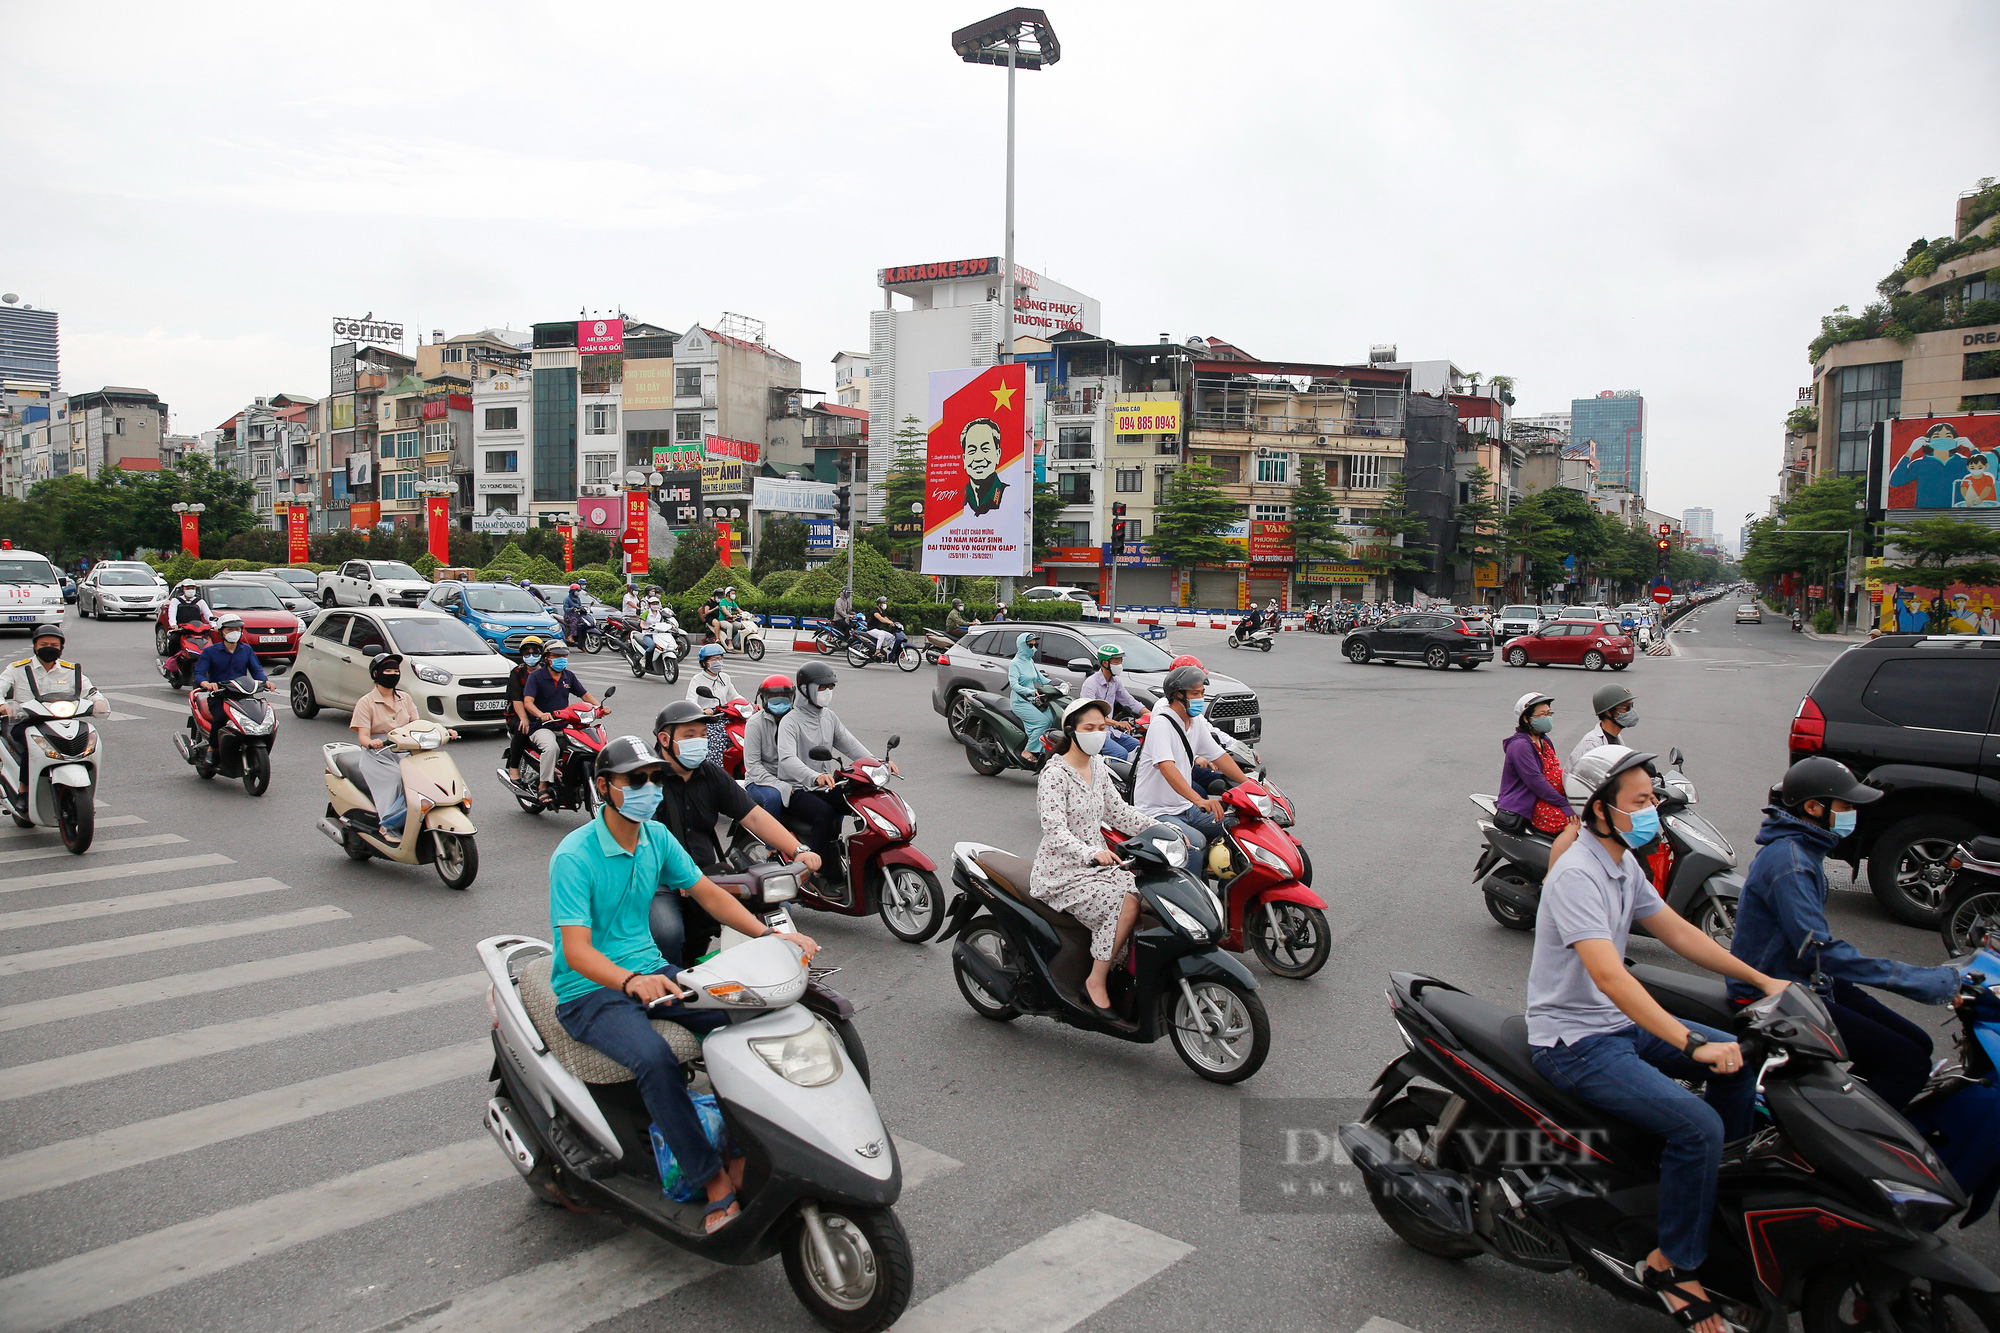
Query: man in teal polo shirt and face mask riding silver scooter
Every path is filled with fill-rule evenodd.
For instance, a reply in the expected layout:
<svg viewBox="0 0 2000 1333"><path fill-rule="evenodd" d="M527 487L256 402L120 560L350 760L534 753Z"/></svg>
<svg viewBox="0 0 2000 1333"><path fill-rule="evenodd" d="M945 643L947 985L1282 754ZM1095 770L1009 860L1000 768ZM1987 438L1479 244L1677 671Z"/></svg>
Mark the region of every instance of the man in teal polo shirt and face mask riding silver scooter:
<svg viewBox="0 0 2000 1333"><path fill-rule="evenodd" d="M548 859L548 917L554 925L556 957L550 985L556 1017L576 1041L596 1047L638 1079L638 1093L666 1145L674 1149L686 1179L704 1181L708 1231L736 1217L736 1173L724 1169L688 1099L688 1085L672 1047L648 1023L648 1005L662 1003L650 1017L672 1019L708 1033L728 1019L714 1011L690 1011L688 995L674 985L680 971L660 957L652 941L650 911L656 889L696 893L712 903L710 913L744 935L770 929L710 883L666 825L652 823L660 807L664 765L640 737L616 737L598 751L598 817L570 833ZM722 901L728 901L726 905ZM728 907L736 911L730 913ZM786 933L806 951L818 953L804 935Z"/></svg>

